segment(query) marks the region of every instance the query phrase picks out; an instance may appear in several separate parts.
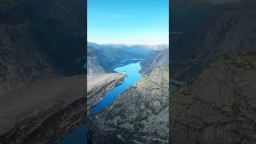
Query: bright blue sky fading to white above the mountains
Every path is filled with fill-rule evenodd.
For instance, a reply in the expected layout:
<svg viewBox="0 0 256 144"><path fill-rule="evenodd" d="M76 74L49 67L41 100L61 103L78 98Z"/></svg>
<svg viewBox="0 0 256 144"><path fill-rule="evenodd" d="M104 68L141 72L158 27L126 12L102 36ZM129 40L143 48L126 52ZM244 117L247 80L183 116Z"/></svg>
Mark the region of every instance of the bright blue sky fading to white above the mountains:
<svg viewBox="0 0 256 144"><path fill-rule="evenodd" d="M88 42L168 43L169 0L87 0Z"/></svg>

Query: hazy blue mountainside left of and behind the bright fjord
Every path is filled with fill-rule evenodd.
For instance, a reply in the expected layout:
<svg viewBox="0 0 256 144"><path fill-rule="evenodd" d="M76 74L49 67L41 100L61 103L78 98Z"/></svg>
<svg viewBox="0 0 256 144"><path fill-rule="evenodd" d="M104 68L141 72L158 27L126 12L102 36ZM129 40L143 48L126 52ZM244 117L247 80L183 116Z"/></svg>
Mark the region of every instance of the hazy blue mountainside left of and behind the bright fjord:
<svg viewBox="0 0 256 144"><path fill-rule="evenodd" d="M122 65L125 60L145 59L154 50L141 47L113 47L87 43L87 76L88 78L113 72L114 66ZM126 62L128 63L128 62Z"/></svg>

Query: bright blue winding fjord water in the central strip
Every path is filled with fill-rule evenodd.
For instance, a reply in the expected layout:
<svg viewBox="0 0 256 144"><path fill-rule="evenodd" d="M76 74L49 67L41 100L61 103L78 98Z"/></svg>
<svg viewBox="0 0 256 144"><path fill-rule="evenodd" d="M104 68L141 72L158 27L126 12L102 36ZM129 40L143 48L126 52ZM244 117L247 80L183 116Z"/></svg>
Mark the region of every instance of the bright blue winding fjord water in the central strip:
<svg viewBox="0 0 256 144"><path fill-rule="evenodd" d="M124 79L124 82L122 82L120 86L115 87L105 94L102 101L91 109L92 113L98 113L99 111L104 110L107 106L110 106L118 95L122 94L128 90L130 86L133 86L134 83L142 79L142 75L138 73L138 71L141 70L140 62L130 63L126 66L119 66L114 69L117 73L123 73L124 70L128 77Z"/></svg>

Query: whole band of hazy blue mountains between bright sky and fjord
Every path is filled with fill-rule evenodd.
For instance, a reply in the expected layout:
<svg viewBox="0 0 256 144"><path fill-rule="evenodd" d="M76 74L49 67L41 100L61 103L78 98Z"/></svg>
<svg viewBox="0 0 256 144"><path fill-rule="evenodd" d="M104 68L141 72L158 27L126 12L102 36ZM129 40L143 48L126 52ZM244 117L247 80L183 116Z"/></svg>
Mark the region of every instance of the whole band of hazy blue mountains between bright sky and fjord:
<svg viewBox="0 0 256 144"><path fill-rule="evenodd" d="M120 58L120 56L122 56ZM141 74L149 74L161 66L169 64L169 45L99 45L87 43L88 76L112 72L110 66L118 65L125 59L144 59ZM112 63L111 63L112 62Z"/></svg>

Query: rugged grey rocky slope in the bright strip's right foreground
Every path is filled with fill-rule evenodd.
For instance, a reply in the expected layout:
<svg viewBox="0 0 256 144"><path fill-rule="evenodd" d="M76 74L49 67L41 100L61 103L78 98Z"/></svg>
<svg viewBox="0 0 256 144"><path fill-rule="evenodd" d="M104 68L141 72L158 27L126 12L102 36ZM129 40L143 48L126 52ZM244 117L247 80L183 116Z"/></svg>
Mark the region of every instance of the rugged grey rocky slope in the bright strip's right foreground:
<svg viewBox="0 0 256 144"><path fill-rule="evenodd" d="M168 66L154 70L97 114L93 122L98 124L92 124L90 141L168 143L168 76Z"/></svg>

